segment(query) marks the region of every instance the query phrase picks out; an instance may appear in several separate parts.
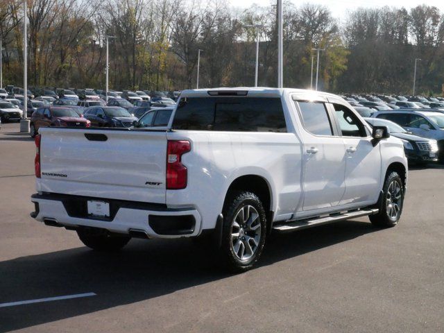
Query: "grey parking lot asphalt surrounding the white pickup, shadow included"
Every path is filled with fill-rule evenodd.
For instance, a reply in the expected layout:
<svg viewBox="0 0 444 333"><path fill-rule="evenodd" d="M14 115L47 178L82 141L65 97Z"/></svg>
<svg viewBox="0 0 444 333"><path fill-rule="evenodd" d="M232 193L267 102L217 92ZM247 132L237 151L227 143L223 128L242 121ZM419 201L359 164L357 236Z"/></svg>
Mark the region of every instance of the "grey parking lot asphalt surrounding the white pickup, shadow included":
<svg viewBox="0 0 444 333"><path fill-rule="evenodd" d="M442 166L410 171L395 228L272 234L257 268L230 275L188 239L94 253L31 219L35 146L18 128L0 130L0 332L444 331Z"/></svg>

